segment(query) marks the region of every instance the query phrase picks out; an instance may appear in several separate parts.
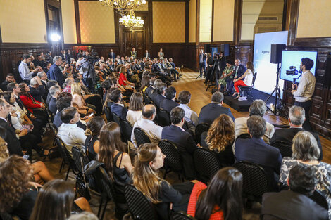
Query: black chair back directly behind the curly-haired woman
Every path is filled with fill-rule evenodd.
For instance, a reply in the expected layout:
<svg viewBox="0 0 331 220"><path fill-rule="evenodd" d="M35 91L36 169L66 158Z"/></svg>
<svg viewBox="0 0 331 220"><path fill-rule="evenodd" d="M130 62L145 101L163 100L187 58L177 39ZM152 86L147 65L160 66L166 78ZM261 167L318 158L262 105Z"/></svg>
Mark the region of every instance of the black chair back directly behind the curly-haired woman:
<svg viewBox="0 0 331 220"><path fill-rule="evenodd" d="M193 153L193 161L198 179L208 183L221 167L215 153L206 148L197 148Z"/></svg>

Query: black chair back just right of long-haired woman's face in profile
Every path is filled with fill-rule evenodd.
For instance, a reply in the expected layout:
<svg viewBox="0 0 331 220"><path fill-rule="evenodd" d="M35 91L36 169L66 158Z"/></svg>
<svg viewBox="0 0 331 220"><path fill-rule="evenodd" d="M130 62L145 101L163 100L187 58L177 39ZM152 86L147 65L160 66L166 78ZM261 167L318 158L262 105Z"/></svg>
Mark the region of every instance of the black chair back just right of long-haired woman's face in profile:
<svg viewBox="0 0 331 220"><path fill-rule="evenodd" d="M165 176L168 174L168 172L173 171L176 172L180 176L180 179L183 180L182 160L180 158L180 153L178 152L177 147L168 140L161 140L158 142L158 146L161 148L162 153L165 155L165 174L163 179L165 179Z"/></svg>

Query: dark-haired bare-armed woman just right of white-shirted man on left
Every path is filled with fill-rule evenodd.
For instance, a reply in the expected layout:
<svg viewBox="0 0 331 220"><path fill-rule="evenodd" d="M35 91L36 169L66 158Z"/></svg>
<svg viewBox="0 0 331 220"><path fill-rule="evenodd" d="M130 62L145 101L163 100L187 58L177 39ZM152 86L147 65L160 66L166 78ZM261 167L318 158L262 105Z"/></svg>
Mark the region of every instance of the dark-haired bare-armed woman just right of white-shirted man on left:
<svg viewBox="0 0 331 220"><path fill-rule="evenodd" d="M104 124L104 119L99 116L93 117L87 122L87 129L85 131L85 135L87 136L85 140L85 155L87 155L89 160L96 160L96 155L99 153L99 135Z"/></svg>

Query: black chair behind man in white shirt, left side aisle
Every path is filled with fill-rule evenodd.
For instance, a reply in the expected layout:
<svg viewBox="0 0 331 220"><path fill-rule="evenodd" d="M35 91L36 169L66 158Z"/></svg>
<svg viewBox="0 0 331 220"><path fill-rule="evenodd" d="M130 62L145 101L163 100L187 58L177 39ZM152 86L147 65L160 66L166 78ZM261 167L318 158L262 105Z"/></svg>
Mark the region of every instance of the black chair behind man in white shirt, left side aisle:
<svg viewBox="0 0 331 220"><path fill-rule="evenodd" d="M56 144L58 145L58 150L60 150L60 154L61 154L61 157L63 159L59 172L61 173L62 167L64 167L65 164L68 164L68 171L67 171L67 174L65 176L65 180L67 180L68 176L69 176L70 169L73 170L73 173L75 175L77 175L77 167L76 167L75 161L73 160L73 157L70 156L70 154L69 154L67 148L65 147L65 144L63 143L62 139L58 135L56 135L55 140L56 140Z"/></svg>

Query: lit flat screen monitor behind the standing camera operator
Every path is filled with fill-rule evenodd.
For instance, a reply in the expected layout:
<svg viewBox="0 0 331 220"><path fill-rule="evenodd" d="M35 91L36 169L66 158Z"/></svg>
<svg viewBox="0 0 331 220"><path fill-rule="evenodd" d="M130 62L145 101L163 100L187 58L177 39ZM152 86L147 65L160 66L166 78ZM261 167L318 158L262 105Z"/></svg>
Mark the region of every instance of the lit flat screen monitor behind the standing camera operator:
<svg viewBox="0 0 331 220"><path fill-rule="evenodd" d="M292 70L300 70L302 58L310 58L314 61L314 65L311 68L311 72L313 73L313 75L315 75L317 51L282 51L282 69L280 70L280 79L292 82L293 79L296 79L295 81L299 82L301 78L301 73Z"/></svg>

